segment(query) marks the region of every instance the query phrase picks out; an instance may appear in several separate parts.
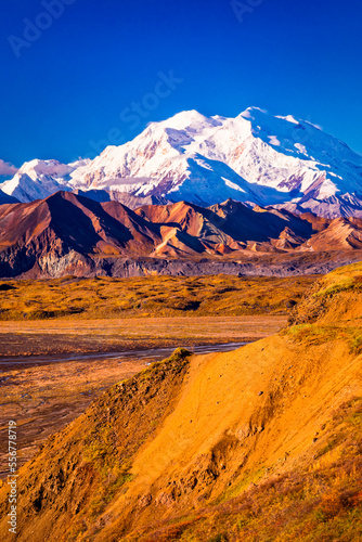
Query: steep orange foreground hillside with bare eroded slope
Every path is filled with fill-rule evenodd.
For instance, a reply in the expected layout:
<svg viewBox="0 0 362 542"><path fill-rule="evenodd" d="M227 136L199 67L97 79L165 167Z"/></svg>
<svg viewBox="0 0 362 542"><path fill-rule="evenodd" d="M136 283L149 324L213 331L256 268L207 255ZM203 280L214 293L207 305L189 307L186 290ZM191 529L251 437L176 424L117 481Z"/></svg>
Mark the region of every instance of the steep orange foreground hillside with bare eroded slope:
<svg viewBox="0 0 362 542"><path fill-rule="evenodd" d="M106 391L21 469L17 540L358 541L361 279L338 269L277 335Z"/></svg>

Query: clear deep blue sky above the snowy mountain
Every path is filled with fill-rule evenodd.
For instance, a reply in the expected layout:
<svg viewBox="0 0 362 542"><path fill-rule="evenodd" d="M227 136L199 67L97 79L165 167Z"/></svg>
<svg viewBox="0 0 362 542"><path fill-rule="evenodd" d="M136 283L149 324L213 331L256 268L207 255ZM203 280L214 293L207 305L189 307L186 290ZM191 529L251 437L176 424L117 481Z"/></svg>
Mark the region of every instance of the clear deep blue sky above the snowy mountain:
<svg viewBox="0 0 362 542"><path fill-rule="evenodd" d="M229 0L55 0L67 3L57 18L39 15L47 1L2 1L5 162L69 162L182 109L235 116L250 105L321 125L362 153L360 0L245 0L254 8L242 17ZM170 70L183 81L150 96ZM120 119L145 95L143 117Z"/></svg>

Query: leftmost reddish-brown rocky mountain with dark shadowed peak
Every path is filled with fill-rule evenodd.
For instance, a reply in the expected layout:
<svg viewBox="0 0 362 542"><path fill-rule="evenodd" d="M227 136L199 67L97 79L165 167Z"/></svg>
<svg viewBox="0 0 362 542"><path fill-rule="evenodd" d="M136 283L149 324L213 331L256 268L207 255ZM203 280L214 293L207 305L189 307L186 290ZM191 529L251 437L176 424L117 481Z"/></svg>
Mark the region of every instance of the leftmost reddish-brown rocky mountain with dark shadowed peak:
<svg viewBox="0 0 362 542"><path fill-rule="evenodd" d="M147 254L161 242L153 224L121 204L99 204L67 192L1 206L0 232L2 276L31 270L82 274L89 271L89 255L118 257L126 248L128 255Z"/></svg>

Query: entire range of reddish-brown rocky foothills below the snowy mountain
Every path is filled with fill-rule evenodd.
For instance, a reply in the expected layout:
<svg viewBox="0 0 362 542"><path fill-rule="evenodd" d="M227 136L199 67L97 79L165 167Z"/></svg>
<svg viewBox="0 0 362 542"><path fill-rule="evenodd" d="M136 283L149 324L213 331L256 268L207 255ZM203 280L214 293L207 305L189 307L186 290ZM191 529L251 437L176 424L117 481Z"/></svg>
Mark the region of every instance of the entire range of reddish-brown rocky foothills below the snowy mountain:
<svg viewBox="0 0 362 542"><path fill-rule="evenodd" d="M357 261L361 249L362 219L319 219L231 199L133 211L57 192L0 206L2 278L313 273ZM256 269L256 256L263 270Z"/></svg>

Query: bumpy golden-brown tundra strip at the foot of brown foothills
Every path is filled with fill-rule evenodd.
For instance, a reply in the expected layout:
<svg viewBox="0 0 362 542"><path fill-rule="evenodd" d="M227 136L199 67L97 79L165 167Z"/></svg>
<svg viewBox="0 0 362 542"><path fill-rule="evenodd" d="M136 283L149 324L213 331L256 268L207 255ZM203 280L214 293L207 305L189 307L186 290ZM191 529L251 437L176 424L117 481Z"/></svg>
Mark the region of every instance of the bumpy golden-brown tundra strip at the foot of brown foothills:
<svg viewBox="0 0 362 542"><path fill-rule="evenodd" d="M0 282L0 320L286 314L315 276Z"/></svg>

